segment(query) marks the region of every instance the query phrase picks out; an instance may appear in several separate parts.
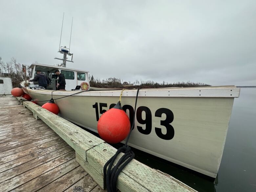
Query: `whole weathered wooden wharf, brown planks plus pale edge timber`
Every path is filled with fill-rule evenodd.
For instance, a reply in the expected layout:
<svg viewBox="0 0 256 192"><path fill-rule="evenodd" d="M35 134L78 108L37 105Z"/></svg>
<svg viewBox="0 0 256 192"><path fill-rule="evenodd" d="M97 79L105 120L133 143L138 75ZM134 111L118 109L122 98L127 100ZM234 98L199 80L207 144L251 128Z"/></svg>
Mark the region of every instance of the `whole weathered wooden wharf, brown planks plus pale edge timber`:
<svg viewBox="0 0 256 192"><path fill-rule="evenodd" d="M21 99L0 97L0 191L105 192L103 166L117 150ZM117 188L124 192L195 192L137 160L122 170Z"/></svg>

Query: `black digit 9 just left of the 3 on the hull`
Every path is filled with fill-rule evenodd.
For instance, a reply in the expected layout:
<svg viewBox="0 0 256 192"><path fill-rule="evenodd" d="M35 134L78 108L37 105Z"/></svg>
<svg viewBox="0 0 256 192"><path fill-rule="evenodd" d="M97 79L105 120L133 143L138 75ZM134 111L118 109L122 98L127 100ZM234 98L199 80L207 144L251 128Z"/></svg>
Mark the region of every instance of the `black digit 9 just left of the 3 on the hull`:
<svg viewBox="0 0 256 192"><path fill-rule="evenodd" d="M142 111L144 111L146 113L146 118L142 119ZM151 115L151 111L148 107L145 106L140 106L138 107L137 111L136 111L136 117L137 117L137 121L144 125L146 124L146 128L142 129L141 126L137 126L137 129L140 133L148 135L151 133L152 130L152 115Z"/></svg>

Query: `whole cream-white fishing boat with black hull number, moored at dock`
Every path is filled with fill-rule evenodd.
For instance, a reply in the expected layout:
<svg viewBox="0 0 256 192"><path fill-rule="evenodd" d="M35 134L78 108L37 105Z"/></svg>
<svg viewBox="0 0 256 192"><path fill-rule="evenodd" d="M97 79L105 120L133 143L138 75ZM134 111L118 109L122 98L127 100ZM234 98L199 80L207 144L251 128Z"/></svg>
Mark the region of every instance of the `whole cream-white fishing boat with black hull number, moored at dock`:
<svg viewBox="0 0 256 192"><path fill-rule="evenodd" d="M40 70L51 85L44 89L36 82L23 81L25 93L40 106L53 97L59 116L94 132L101 115L115 106L122 91L90 87L88 71L67 68L66 64L33 63L29 68L30 79ZM56 91L56 69L65 76L65 90ZM124 89L121 105L131 122L135 113L135 128L128 144L215 178L234 98L239 94L240 88L235 86L140 89L134 111L137 89Z"/></svg>

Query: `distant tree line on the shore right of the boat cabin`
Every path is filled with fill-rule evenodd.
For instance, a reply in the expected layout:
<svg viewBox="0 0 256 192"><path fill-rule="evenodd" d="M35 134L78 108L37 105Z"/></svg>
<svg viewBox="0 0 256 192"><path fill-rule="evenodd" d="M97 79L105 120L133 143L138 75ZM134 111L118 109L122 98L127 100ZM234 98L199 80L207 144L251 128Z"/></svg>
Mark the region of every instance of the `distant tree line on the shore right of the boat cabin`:
<svg viewBox="0 0 256 192"><path fill-rule="evenodd" d="M107 78L107 79L95 79L94 76L89 75L90 86L97 87L97 88L123 88L123 80L120 78ZM129 84L131 82L129 81ZM133 86L125 86L126 88L164 88L164 87L202 87L202 86L211 86L205 83L194 83L194 82L175 82L169 83L163 81L162 83L154 82L151 80L143 81L143 80L136 80L133 82Z"/></svg>

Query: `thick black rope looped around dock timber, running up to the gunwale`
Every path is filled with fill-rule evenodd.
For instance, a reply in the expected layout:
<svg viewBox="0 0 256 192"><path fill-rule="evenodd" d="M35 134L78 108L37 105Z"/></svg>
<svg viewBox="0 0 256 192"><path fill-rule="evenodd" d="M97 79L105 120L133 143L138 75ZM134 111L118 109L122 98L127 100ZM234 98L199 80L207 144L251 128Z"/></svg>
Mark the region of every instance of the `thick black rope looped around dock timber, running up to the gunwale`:
<svg viewBox="0 0 256 192"><path fill-rule="evenodd" d="M136 112L139 89L136 95L135 108L134 108L135 112ZM131 151L131 147L127 145L130 135L132 133L132 130L134 128L134 122L135 122L135 113L133 116L133 124L131 126L129 135L127 136L127 139L125 141L125 145L123 147L120 147L117 150L116 154L112 158L110 158L103 167L104 188L106 187L108 192L117 191L117 178L119 173L135 157L134 152ZM117 164L112 168L117 156L119 155L119 153L122 153L122 152L124 153L124 155L118 160ZM108 166L108 169L107 169L107 166Z"/></svg>

